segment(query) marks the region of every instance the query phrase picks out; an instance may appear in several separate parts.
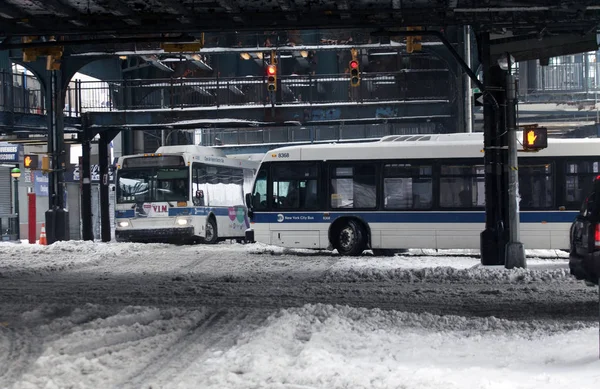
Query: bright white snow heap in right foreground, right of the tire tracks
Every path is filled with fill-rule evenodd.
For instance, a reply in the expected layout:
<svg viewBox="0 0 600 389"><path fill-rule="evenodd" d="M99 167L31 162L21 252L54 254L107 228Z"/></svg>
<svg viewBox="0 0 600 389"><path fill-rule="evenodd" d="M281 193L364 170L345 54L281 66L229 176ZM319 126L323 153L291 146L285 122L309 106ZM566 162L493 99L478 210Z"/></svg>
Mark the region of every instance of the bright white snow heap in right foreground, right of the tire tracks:
<svg viewBox="0 0 600 389"><path fill-rule="evenodd" d="M595 388L597 330L308 305L168 388Z"/></svg>

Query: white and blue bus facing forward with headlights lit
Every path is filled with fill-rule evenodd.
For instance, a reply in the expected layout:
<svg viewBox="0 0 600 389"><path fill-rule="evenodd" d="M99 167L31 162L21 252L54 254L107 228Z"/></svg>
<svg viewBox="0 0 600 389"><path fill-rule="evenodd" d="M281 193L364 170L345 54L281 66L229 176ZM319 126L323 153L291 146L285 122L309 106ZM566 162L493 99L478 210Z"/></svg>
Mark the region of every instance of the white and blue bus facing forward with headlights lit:
<svg viewBox="0 0 600 389"><path fill-rule="evenodd" d="M203 146L163 146L119 158L116 240L243 240L249 226L244 193L258 165Z"/></svg>

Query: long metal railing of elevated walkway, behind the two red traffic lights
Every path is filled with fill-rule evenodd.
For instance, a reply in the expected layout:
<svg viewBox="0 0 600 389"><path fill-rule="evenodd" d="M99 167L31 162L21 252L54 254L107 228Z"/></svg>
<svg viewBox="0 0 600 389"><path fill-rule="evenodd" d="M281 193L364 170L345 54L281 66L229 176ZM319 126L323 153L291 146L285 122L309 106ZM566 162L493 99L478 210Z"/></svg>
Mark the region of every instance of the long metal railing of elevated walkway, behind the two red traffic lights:
<svg viewBox="0 0 600 389"><path fill-rule="evenodd" d="M72 81L64 112L79 116L87 111L269 106L273 98L277 104L453 100L455 88L450 78L447 69L363 73L360 86L352 88L346 74L280 76L275 94L267 91L266 77L255 76ZM0 109L45 113L41 88L10 82L2 85ZM35 98L24 104L21 95Z"/></svg>

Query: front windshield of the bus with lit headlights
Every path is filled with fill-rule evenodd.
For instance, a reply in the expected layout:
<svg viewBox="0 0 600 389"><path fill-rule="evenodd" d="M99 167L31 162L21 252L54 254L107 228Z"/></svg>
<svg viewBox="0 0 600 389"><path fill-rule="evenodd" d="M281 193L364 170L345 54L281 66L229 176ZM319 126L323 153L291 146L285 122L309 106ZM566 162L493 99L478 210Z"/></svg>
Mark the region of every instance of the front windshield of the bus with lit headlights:
<svg viewBox="0 0 600 389"><path fill-rule="evenodd" d="M188 167L122 169L117 175L117 203L187 201Z"/></svg>

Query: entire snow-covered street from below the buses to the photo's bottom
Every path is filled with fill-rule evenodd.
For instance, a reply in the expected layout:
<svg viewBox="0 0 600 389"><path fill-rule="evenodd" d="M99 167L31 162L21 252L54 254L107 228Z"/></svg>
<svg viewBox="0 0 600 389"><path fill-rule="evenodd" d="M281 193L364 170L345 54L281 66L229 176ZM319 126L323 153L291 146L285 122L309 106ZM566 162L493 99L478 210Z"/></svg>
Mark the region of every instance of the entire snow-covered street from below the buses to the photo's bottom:
<svg viewBox="0 0 600 389"><path fill-rule="evenodd" d="M566 258L0 244L0 388L596 387Z"/></svg>

